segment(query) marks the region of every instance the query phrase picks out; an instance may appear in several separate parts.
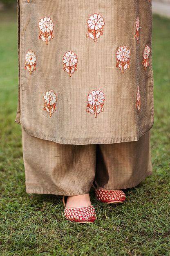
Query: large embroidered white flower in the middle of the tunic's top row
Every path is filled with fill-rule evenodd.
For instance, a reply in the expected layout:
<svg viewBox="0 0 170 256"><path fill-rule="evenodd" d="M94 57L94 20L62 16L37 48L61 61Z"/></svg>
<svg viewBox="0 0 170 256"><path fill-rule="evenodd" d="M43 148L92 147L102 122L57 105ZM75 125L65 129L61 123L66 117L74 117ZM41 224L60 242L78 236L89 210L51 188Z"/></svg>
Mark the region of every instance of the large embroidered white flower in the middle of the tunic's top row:
<svg viewBox="0 0 170 256"><path fill-rule="evenodd" d="M104 19L100 14L93 14L87 20L88 33L86 37L91 37L94 42L103 34L103 26L105 25Z"/></svg>

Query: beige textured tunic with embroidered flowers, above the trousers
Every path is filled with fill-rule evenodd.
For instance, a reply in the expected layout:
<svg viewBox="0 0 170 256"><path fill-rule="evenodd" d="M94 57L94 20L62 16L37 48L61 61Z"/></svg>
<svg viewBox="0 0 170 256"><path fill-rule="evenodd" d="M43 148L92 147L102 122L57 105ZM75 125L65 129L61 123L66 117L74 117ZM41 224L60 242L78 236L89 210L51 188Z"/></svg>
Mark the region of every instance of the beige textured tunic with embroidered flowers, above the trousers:
<svg viewBox="0 0 170 256"><path fill-rule="evenodd" d="M29 135L61 144L111 144L136 141L152 127L149 0L130 3L127 0L20 0L18 11L20 83L16 122L21 123ZM90 37L92 31L87 25L93 14L101 15L102 28L94 29L96 42ZM42 40L45 35L40 34L38 27L44 17L54 23L52 35L50 32L47 35L48 45ZM136 17L141 27L139 42L135 38ZM122 46L130 50L130 59L122 60L123 64L116 58L116 51ZM151 49L148 60L145 59L146 68L142 65L145 46ZM25 59L29 50L36 54L36 65L33 59L31 67L29 59ZM69 51L78 59L71 77L67 73L71 67L63 69L63 56ZM120 69L122 65L127 67L124 73ZM28 69L32 69L31 74ZM136 108L138 87L140 112ZM54 97L51 103L47 91L55 93L51 92ZM93 95L89 94L91 91ZM87 106L88 95L91 101ZM95 111L100 113L95 117L94 107L99 103Z"/></svg>

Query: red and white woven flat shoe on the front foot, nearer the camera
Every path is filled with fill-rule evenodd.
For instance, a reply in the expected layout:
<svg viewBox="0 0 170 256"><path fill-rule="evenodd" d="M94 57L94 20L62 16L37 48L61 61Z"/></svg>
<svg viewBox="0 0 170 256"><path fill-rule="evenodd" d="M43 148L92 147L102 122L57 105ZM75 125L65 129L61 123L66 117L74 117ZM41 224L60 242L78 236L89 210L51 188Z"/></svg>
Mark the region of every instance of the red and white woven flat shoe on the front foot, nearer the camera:
<svg viewBox="0 0 170 256"><path fill-rule="evenodd" d="M64 215L67 220L77 223L93 223L96 219L96 212L94 206L89 205L85 207L66 207L67 197L63 197L65 206Z"/></svg>

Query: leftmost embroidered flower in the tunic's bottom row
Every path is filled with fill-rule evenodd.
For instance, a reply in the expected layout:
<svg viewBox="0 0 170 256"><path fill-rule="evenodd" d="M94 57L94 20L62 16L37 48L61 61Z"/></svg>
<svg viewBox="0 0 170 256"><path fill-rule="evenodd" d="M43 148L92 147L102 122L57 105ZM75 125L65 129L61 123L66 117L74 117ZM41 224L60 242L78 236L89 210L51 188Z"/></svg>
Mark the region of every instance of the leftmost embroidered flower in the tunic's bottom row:
<svg viewBox="0 0 170 256"><path fill-rule="evenodd" d="M51 117L51 114L56 111L56 102L57 102L57 96L54 91L46 91L44 95L44 110L47 110L49 112L49 115Z"/></svg>

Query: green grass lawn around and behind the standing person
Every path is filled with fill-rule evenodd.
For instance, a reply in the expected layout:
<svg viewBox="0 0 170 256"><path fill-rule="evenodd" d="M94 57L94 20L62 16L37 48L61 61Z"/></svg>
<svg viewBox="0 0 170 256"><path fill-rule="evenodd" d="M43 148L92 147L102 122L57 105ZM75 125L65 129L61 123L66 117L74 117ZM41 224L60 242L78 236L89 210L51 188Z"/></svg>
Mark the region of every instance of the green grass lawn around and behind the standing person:
<svg viewBox="0 0 170 256"><path fill-rule="evenodd" d="M97 203L94 224L63 216L61 197L27 194L17 109L15 12L0 12L0 256L170 255L170 20L154 16L153 175L120 206Z"/></svg>

